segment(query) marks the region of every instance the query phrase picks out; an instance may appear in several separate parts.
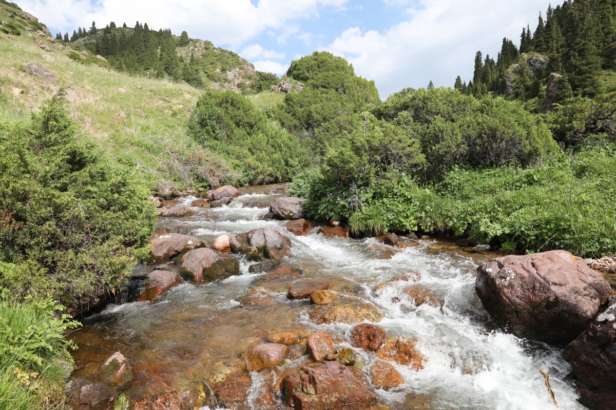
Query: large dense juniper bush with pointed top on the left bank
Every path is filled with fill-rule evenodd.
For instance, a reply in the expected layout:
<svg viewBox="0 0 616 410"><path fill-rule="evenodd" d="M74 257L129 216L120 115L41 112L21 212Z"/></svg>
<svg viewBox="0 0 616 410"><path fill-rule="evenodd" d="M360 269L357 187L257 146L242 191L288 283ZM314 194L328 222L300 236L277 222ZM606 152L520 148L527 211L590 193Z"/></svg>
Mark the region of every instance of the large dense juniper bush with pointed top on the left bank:
<svg viewBox="0 0 616 410"><path fill-rule="evenodd" d="M78 135L60 91L31 125L0 122L0 286L70 301L118 288L155 229L150 190Z"/></svg>

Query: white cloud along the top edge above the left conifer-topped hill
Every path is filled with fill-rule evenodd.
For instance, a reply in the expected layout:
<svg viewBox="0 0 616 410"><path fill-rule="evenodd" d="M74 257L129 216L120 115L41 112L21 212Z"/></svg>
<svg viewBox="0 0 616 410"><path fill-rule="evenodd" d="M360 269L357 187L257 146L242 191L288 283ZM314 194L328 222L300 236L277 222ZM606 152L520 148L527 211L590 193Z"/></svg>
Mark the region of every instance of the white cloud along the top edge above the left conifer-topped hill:
<svg viewBox="0 0 616 410"><path fill-rule="evenodd" d="M72 33L92 21L134 26L139 20L152 28L188 31L193 38L238 47L265 30L282 30L291 20L316 17L322 7L340 8L348 0L21 0L22 9L39 17L52 30ZM120 21L120 19L123 19Z"/></svg>

